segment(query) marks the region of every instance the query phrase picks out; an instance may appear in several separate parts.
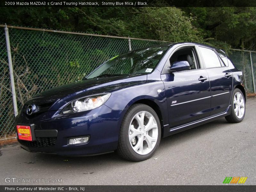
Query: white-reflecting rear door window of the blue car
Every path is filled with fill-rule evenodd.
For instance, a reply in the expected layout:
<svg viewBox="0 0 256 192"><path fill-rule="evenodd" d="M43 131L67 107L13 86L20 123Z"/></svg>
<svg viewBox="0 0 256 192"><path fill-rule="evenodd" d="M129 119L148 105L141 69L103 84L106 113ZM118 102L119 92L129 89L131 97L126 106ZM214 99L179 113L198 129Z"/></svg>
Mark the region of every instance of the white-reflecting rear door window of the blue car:
<svg viewBox="0 0 256 192"><path fill-rule="evenodd" d="M199 49L204 59L205 68L221 67L218 55L212 49L200 46Z"/></svg>

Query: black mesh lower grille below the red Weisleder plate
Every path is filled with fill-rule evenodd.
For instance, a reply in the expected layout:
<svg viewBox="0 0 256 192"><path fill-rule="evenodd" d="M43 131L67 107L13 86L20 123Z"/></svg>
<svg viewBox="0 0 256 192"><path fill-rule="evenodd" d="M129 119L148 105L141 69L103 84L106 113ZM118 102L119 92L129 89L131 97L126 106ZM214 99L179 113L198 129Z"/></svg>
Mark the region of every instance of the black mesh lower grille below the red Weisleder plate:
<svg viewBox="0 0 256 192"><path fill-rule="evenodd" d="M27 147L50 147L54 146L57 137L37 137L35 141L19 140L21 145Z"/></svg>

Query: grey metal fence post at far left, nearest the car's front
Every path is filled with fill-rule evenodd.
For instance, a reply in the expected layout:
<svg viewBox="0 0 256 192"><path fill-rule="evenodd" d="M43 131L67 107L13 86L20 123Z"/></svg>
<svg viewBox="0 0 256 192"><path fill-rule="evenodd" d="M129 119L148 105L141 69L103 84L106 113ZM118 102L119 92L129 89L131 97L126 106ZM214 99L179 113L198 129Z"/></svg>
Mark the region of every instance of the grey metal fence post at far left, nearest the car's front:
<svg viewBox="0 0 256 192"><path fill-rule="evenodd" d="M8 56L11 88L12 88L12 102L13 102L13 108L14 108L14 116L17 116L18 115L18 107L17 107L14 77L13 77L11 46L10 46L10 39L9 39L9 30L8 30L6 24L5 24L4 31L5 31L6 49L7 49L7 56Z"/></svg>

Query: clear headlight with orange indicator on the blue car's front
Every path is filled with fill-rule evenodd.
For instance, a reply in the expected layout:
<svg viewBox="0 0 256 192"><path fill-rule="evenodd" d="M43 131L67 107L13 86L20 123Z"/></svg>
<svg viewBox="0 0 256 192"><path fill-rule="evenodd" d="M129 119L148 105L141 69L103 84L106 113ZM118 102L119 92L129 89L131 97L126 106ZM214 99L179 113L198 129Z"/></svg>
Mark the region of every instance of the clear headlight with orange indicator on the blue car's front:
<svg viewBox="0 0 256 192"><path fill-rule="evenodd" d="M70 102L66 107L62 109L62 113L72 113L72 112L81 112L95 109L103 105L111 93L92 95L83 97L77 100Z"/></svg>

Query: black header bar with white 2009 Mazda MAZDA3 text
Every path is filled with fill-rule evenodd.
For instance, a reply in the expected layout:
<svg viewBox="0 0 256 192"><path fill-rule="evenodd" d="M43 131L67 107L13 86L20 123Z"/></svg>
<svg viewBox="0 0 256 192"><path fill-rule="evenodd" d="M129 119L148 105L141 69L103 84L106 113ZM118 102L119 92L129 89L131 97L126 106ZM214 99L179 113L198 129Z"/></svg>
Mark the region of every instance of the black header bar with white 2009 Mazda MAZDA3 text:
<svg viewBox="0 0 256 192"><path fill-rule="evenodd" d="M256 7L255 0L2 0L0 7Z"/></svg>

